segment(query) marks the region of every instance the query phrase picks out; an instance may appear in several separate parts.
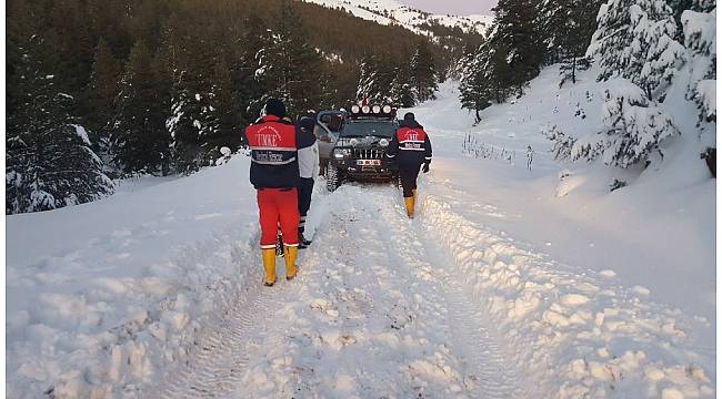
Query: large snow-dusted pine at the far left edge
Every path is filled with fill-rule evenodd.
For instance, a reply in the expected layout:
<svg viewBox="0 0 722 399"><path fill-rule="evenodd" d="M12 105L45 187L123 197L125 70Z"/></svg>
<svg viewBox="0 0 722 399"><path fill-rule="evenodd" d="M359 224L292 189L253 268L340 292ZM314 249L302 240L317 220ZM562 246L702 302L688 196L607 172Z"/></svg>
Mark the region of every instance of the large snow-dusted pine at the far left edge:
<svg viewBox="0 0 722 399"><path fill-rule="evenodd" d="M112 192L100 158L61 91L54 48L37 33L10 31L20 53L8 76L6 213L49 211Z"/></svg>

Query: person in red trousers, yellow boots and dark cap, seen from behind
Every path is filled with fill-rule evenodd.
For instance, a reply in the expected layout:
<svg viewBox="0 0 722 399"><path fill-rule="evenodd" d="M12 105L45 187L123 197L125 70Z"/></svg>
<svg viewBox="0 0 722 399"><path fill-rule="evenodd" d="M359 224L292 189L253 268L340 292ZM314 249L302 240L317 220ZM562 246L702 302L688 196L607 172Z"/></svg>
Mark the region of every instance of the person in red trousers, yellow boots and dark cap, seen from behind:
<svg viewBox="0 0 722 399"><path fill-rule="evenodd" d="M269 99L263 116L245 129L251 149L251 184L257 190L261 224L261 257L265 278L263 284L275 283L275 241L278 226L283 237L285 278L295 277L295 258L299 247L298 132L284 119L285 105L281 100Z"/></svg>

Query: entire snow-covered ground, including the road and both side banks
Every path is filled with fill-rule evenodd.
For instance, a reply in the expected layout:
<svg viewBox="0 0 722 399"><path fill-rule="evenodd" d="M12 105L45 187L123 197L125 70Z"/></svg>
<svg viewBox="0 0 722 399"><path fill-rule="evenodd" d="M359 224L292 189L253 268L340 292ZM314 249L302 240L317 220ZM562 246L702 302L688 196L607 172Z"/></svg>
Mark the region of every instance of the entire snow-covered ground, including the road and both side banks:
<svg viewBox="0 0 722 399"><path fill-rule="evenodd" d="M555 79L474 127L442 86L414 110L419 217L388 185L318 187L272 288L244 155L9 216L8 397L713 397L714 181L552 162L540 125L599 124L593 98L574 116L593 84Z"/></svg>

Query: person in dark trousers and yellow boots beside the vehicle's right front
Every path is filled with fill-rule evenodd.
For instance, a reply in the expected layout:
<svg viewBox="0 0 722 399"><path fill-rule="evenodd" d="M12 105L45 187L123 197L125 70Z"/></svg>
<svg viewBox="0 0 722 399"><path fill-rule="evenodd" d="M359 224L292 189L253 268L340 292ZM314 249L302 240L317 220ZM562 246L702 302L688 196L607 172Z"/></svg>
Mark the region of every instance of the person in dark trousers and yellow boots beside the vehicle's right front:
<svg viewBox="0 0 722 399"><path fill-rule="evenodd" d="M431 141L413 113L403 115L403 121L399 123L399 129L389 143L387 156L397 162L407 215L413 218L419 168L423 165L423 173L427 173L431 164Z"/></svg>

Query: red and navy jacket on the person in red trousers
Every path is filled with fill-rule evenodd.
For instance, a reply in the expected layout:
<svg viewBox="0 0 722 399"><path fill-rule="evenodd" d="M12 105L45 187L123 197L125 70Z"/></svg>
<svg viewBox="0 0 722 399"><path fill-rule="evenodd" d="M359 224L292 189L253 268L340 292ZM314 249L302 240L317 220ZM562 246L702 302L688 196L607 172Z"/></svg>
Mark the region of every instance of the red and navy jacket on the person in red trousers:
<svg viewBox="0 0 722 399"><path fill-rule="evenodd" d="M292 188L299 184L299 134L292 122L265 115L245 127L251 147L251 184L255 188Z"/></svg>

